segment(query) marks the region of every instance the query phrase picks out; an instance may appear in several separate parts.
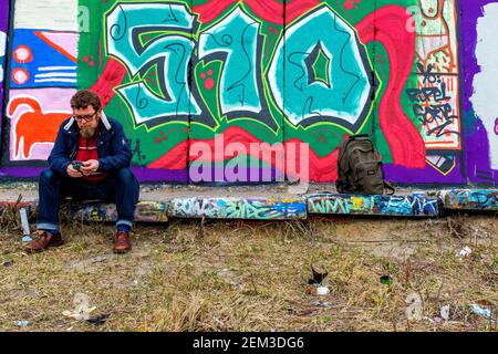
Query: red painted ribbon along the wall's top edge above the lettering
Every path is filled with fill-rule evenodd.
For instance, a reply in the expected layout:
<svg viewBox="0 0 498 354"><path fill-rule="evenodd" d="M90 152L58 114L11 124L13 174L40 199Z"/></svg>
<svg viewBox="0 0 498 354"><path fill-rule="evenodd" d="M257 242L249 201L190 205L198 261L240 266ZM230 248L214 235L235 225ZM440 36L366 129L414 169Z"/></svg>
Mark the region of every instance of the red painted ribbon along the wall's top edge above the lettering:
<svg viewBox="0 0 498 354"><path fill-rule="evenodd" d="M210 22L218 18L220 13L227 10L238 0L211 0L204 4L194 7L194 12L199 14L199 21L203 23ZM246 0L243 1L255 13L264 21L283 24L283 2L277 0ZM286 4L287 23L292 22L301 14L319 4L319 0L299 0Z"/></svg>

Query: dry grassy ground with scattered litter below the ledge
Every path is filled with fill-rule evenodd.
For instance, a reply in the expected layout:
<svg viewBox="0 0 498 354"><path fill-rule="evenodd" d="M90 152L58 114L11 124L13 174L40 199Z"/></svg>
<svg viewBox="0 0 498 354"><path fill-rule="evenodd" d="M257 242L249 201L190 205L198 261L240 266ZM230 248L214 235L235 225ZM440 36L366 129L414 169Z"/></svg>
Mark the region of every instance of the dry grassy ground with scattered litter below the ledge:
<svg viewBox="0 0 498 354"><path fill-rule="evenodd" d="M470 308L487 304L496 319L495 215L170 220L137 225L132 252L120 256L112 225L62 230L64 246L27 254L20 228L0 226L0 331L498 327ZM329 294L310 294L311 264L328 271ZM79 311L87 315L71 316Z"/></svg>

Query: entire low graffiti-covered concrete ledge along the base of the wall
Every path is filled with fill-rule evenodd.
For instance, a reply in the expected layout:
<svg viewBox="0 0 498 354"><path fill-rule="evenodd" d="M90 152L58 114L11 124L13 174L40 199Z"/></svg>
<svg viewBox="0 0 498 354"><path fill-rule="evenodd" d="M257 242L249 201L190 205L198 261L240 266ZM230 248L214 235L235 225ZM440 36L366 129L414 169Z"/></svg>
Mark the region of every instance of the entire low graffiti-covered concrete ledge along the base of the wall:
<svg viewBox="0 0 498 354"><path fill-rule="evenodd" d="M220 194L218 190L216 192ZM214 191L214 192L215 192ZM197 192L196 190L193 194ZM135 209L135 221L164 222L168 218L247 219L247 220L302 220L312 215L364 215L380 217L425 217L434 218L444 210L495 211L498 210L496 189L448 189L397 194L395 196L341 195L330 191L312 192L304 196L280 197L239 191L224 191L229 196L168 195L157 192L151 200L141 201ZM27 208L31 218L35 215L38 200L22 200L15 194L10 199L0 199L2 210ZM261 194L263 195L263 194ZM15 198L13 198L14 196ZM34 197L34 196L32 196ZM157 199L155 198L157 197ZM18 200L18 201L13 201ZM64 212L65 210L65 212ZM66 202L63 216L81 221L115 221L114 204L90 201Z"/></svg>

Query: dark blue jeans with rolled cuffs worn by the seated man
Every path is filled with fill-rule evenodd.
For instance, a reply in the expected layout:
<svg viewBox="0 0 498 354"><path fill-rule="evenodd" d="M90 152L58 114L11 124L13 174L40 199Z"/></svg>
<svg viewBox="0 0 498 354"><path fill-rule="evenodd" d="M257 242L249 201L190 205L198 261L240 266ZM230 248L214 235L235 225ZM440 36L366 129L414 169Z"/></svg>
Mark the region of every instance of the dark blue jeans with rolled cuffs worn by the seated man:
<svg viewBox="0 0 498 354"><path fill-rule="evenodd" d="M115 202L118 225L133 227L135 205L138 202L139 186L129 168L111 173L98 184L89 184L81 178L62 176L51 169L41 173L39 179L39 207L37 228L59 230L59 207L61 200L104 200Z"/></svg>

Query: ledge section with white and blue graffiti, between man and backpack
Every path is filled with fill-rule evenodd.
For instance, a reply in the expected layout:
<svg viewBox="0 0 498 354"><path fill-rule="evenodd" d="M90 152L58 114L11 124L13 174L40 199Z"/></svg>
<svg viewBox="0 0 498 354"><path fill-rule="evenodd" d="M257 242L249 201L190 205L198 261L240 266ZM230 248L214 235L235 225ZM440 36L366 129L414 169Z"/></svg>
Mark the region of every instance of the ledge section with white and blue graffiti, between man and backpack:
<svg viewBox="0 0 498 354"><path fill-rule="evenodd" d="M209 219L287 220L305 219L304 199L197 198L170 200L172 217Z"/></svg>

